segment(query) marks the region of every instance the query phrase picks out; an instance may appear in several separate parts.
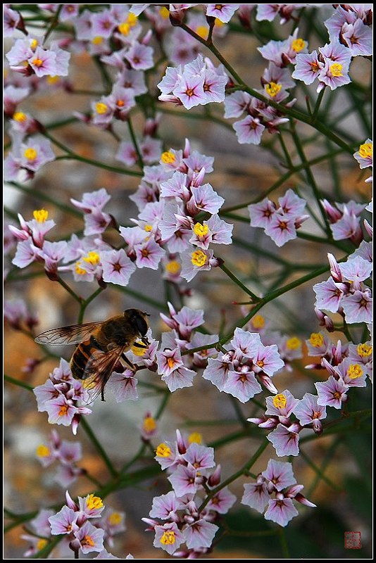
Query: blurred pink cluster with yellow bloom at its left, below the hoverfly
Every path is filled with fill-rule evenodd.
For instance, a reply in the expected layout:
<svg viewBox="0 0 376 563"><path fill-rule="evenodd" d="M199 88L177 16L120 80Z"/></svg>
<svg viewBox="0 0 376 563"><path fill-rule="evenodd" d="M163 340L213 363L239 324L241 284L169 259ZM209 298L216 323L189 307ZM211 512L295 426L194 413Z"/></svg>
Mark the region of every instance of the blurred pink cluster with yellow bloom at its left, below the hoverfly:
<svg viewBox="0 0 376 563"><path fill-rule="evenodd" d="M51 431L51 438L47 443L39 444L37 457L43 467L59 462L60 467L55 472L54 480L63 488L70 486L78 476L84 474L84 469L77 467L77 462L82 457L81 444L61 440L56 430Z"/></svg>

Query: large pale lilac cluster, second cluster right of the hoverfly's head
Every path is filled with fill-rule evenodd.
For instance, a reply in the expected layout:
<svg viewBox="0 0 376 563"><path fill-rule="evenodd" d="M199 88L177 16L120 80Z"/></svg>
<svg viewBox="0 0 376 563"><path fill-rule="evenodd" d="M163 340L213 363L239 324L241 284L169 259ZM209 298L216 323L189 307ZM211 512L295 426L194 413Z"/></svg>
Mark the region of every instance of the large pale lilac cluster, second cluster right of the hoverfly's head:
<svg viewBox="0 0 376 563"><path fill-rule="evenodd" d="M284 362L275 344L264 346L258 333L237 328L234 338L224 348L225 351L216 358L209 358L208 367L203 372L204 379L241 403L261 393L259 381L269 391L277 393L271 378L284 366Z"/></svg>

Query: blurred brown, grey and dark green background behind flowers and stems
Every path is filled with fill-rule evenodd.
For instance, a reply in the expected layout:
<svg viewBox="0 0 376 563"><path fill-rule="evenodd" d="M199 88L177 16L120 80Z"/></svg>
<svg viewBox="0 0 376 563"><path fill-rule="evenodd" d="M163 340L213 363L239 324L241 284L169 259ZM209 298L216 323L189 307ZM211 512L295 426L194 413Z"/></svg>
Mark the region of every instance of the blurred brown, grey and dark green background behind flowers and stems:
<svg viewBox="0 0 376 563"><path fill-rule="evenodd" d="M260 76L265 68L265 61L261 58L256 47L258 42L254 37L244 37L242 34L231 34L218 40L218 47L226 54L227 59L234 68L245 77L252 87L259 87ZM310 46L311 47L311 46ZM314 46L312 46L312 49ZM87 53L73 54L70 62L70 81L73 86L82 90L100 89L101 77L94 66L92 58ZM358 57L351 66L354 77L364 78L370 72L368 61ZM158 82L158 80L157 80ZM67 94L62 89L52 91L38 91L30 99L23 102L23 110L30 112L42 123L51 120L61 120L69 117L74 111L87 112L89 110L89 96ZM301 102L301 100L299 100ZM214 156L214 172L208 180L220 196L225 198L225 205L232 206L242 202L251 201L258 194L275 182L284 173L284 168L273 156L272 146L277 141L274 137L265 136L262 146L239 145L234 131L211 123L206 120L184 119L182 110L174 110L173 106L165 106L171 113L162 113L161 125L158 133L163 139L165 148L183 148L184 139L191 142L192 148L208 156ZM337 96L337 103L333 112L340 113L341 94ZM174 115L175 111L175 115ZM214 108L215 115L223 117L222 109ZM134 129L142 131L143 120L134 117ZM343 120L341 127L351 127L354 135L359 132L359 142L363 142L361 125L357 122ZM301 127L301 132L307 134L309 128ZM116 131L120 138L126 139L125 124L117 124ZM101 131L93 126L81 122L73 122L54 132L63 144L73 151L87 158L98 159L108 164L118 165L114 160L117 143L108 132ZM265 145L270 145L271 150L265 150ZM312 144L307 148L308 158L314 158L320 153L320 146ZM56 151L58 154L58 150ZM333 178L330 166L322 163L313 168L316 182L322 194L332 194ZM358 165L351 158L343 159L340 168L340 182L348 198L356 201L365 201L369 198L369 188L364 184L359 175ZM49 217L56 222L56 227L50 232L51 240L60 240L64 236L82 229L80 217L72 217L48 203L41 194L46 194L53 201L56 200L70 205L70 198L80 200L82 194L105 187L111 194L111 201L106 207L119 224L129 224L131 217L137 217L137 208L128 196L136 189L139 181L137 178L119 175L115 172L101 170L100 168L79 163L75 160L56 160L45 165L32 182L24 185L24 190L6 185L4 203L12 213L22 213L26 220L32 217L32 211L46 208ZM272 194L277 196L289 187L301 190L302 196L309 198L309 189L304 184L302 176L291 177L283 184L279 191ZM239 212L248 217L246 210ZM6 217L8 220L8 216ZM17 224L12 217L12 224ZM230 221L227 219L227 221ZM315 224L310 220L305 224L304 230L315 234ZM246 222L234 221L234 236L239 240L237 245L221 247L220 256L232 270L238 272L252 291L262 294L263 289L275 277L275 262L268 259L268 252L276 253L280 258L294 260L294 262L314 263L325 265L327 251L318 244L297 239L287 243L276 251L276 247L261 229L251 229ZM110 240L110 239L109 239ZM120 242L115 233L111 240ZM252 243L263 248L265 255L252 254L242 246L242 241ZM42 267L42 266L41 266ZM38 267L32 267L38 271ZM28 272L29 270L27 270ZM12 281L6 282L6 298L22 297L29 305L30 310L39 318L35 334L46 329L51 329L65 324L77 322L77 303L56 282L46 277L25 277L25 272L12 275ZM294 278L291 278L291 281ZM315 279L313 283L326 279L325 276ZM82 296L88 296L95 289L95 284L75 284L72 279L69 283ZM234 301L245 301L244 293L225 277L219 269L203 272L194 279L192 295L185 298L185 304L194 309L203 309L206 329L212 333L218 332L222 322L230 327L240 315L239 305ZM137 270L131 278L129 288L145 296L163 301L165 287L160 272L152 270ZM270 323L272 330L282 331L289 336L299 336L306 339L311 332L318 331L318 321L313 313L315 294L312 284L308 283L296 291L291 291L277 301L265 306L263 315ZM151 328L153 336L165 329L158 308L146 305L132 293L123 293L113 286L108 286L106 291L96 298L87 308L85 321L104 320L126 308L144 308L151 314ZM333 341L341 335L332 334ZM305 352L306 347L303 346ZM69 360L71 348L61 350L63 358ZM30 358L40 358L39 346L21 331L15 331L6 324L4 335L4 372L15 379L25 381L27 384L37 386L43 384L49 372L56 367L55 360L48 360L37 365L32 373L25 372L25 366ZM300 365L312 362L307 355L300 361ZM284 371L277 375L275 381L281 391L289 388L298 398L308 391L313 393L314 381L320 380L322 374L317 371L303 373L299 369L292 372ZM325 377L325 376L324 376ZM158 381L156 374L143 372L140 376L143 381ZM325 377L326 379L326 377ZM354 389L351 400L362 407L369 400L370 391ZM122 466L129 460L140 445L139 427L147 411L155 412L160 399L146 388L140 391L140 398L136 402L115 403L111 393L107 393L106 402L96 401L93 405L93 414L89 417L96 436L106 448L108 455L115 466ZM240 405L244 419L251 416L252 406ZM37 460L36 449L44 443L50 435L51 426L47 423L46 413L37 412L35 396L27 390L6 384L4 388L4 503L14 513L32 512L41 507L62 505L65 491L54 480L54 465L46 469ZM218 419L218 425L206 424L206 421ZM190 424L191 420L201 423ZM201 432L203 441L209 443L232 430L239 428L234 405L230 396L219 393L210 382L203 380L200 375L196 377L194 386L184 388L173 393L170 398L168 410L165 411L158 429L158 444L166 439L173 439L175 429L183 433L192 431ZM262 433L263 431L261 431ZM74 438L70 428L58 427L61 438L66 440L79 440L82 442L83 458L80 467L87 469L96 479L104 481L107 469L87 440L82 429L79 429L77 438ZM251 438L235 441L225 448L215 450L215 461L222 465L223 478L232 474L237 468L251 457L258 447L259 442ZM335 450L335 455L332 455ZM370 512L368 501L370 499L370 443L368 436L356 432L344 432L341 435L330 433L318 440L307 442L304 451L321 467L325 475L334 481L337 490L333 490L325 483L325 479L318 481L317 474L306 463L302 456L294 460L294 473L299 483L305 485L306 493L318 508L312 510L305 507L299 509L300 515L294 519L286 529L286 537L291 549L292 557L296 558L343 558L366 557L371 543ZM258 460L252 470L257 473L263 471L270 455L274 454L268 448ZM140 463L139 467L142 467ZM267 528L263 518L253 510L241 505L243 484L246 479L239 479L230 486L231 491L237 495L238 501L226 521L231 529L241 531L265 530ZM127 553L132 553L137 559L156 559L168 557L162 550L152 547L153 534L144 532L145 525L142 517L149 514L152 498L168 492L169 483L165 474L158 479L140 483L137 487L129 487L123 491L113 493L106 498L105 504L116 510L125 511L127 530L115 536L115 546L111 550L115 555L124 558ZM311 495L310 492L313 491ZM92 485L83 476L70 487L70 494L86 495L92 492ZM344 531L361 531L363 549L344 550ZM4 556L6 559L23 557L27 543L20 539L23 533L21 526L11 529L6 535ZM225 559L266 559L280 557L280 544L276 539L252 538L229 536L218 544L213 557ZM206 555L205 557L211 557Z"/></svg>

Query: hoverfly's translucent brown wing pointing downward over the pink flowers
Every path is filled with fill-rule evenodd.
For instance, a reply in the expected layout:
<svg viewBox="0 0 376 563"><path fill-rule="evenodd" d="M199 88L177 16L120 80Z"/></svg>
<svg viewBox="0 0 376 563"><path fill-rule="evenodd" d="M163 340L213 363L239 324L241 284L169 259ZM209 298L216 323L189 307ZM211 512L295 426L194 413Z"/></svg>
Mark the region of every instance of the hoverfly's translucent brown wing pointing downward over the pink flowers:
<svg viewBox="0 0 376 563"><path fill-rule="evenodd" d="M95 350L90 356L82 374L82 385L89 391L91 403L99 396L99 393L102 393L103 396L104 387L113 368L126 349L127 346L116 346L110 352Z"/></svg>

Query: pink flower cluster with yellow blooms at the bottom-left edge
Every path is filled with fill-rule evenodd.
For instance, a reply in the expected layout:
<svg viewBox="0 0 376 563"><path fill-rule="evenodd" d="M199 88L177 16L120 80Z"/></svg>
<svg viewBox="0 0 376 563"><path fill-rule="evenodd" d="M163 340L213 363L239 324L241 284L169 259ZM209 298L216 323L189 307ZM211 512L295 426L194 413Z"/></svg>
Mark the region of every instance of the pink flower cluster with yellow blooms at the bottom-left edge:
<svg viewBox="0 0 376 563"><path fill-rule="evenodd" d="M108 510L104 512L104 504L101 498L92 494L86 497L78 497L75 502L66 492L67 504L56 514L48 518L51 526L51 535L66 536L66 542L70 550L76 554L81 552L99 552L99 559L106 559L108 552L104 550L104 541L113 545L113 536L125 530L123 512ZM91 519L100 521L90 522ZM111 554L108 554L111 555ZM108 557L113 559L114 557Z"/></svg>

